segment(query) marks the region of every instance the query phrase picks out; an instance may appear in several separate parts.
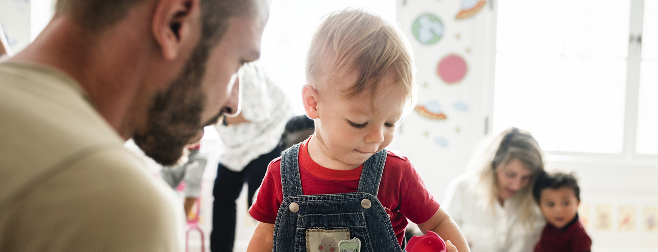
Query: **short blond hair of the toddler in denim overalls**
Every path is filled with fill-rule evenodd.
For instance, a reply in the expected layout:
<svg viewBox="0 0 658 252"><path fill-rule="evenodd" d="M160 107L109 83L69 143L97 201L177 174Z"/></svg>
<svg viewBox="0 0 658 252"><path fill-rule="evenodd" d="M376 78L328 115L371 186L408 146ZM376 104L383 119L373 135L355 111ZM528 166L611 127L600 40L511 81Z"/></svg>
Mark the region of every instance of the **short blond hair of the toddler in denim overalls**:
<svg viewBox="0 0 658 252"><path fill-rule="evenodd" d="M344 77L357 72L357 81L342 90L345 98L364 90L374 94L376 84L392 73L403 95L413 103L414 64L409 41L380 16L361 9L331 13L316 30L306 59L306 78Z"/></svg>

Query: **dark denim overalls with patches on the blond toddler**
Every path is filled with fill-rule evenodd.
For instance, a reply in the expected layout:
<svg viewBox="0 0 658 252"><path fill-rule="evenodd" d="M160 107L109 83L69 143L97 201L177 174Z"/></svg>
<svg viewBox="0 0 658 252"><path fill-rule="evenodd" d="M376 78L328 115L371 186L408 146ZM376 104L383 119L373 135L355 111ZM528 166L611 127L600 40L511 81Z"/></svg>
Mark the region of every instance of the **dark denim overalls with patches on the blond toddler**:
<svg viewBox="0 0 658 252"><path fill-rule="evenodd" d="M302 195L298 153L299 144L281 156L284 201L274 224L273 251L341 252L336 244L352 238L361 241L359 252L403 251L377 199L386 149L363 164L357 192L323 195Z"/></svg>

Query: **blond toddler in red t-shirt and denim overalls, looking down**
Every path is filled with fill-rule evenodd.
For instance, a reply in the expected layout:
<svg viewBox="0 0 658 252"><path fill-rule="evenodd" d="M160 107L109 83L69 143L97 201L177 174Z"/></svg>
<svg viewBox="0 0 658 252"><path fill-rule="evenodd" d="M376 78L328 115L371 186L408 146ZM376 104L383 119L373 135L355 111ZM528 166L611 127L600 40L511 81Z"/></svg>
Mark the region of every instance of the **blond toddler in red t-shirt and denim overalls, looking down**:
<svg viewBox="0 0 658 252"><path fill-rule="evenodd" d="M315 133L269 164L247 251L403 251L407 219L469 251L409 159L384 149L412 107L413 67L401 32L374 14L320 24L302 88Z"/></svg>

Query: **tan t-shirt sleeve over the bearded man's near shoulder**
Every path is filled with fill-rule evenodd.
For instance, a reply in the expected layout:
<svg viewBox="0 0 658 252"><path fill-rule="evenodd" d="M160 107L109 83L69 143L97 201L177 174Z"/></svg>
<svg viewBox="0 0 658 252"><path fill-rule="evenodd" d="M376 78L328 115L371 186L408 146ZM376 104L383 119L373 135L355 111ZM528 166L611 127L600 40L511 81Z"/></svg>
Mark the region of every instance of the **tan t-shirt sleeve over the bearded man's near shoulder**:
<svg viewBox="0 0 658 252"><path fill-rule="evenodd" d="M101 243L116 251L130 250L139 247L132 242L134 237L144 247L157 246L163 238L167 242L177 238L175 205L165 188L141 168L138 157L125 149L103 149L34 177L12 195L15 204L0 211L0 219L29 219L29 223L20 222L22 230L38 236L76 234L75 239L60 237L45 243L68 243L89 251L103 249L94 247ZM48 234L53 226L60 231Z"/></svg>

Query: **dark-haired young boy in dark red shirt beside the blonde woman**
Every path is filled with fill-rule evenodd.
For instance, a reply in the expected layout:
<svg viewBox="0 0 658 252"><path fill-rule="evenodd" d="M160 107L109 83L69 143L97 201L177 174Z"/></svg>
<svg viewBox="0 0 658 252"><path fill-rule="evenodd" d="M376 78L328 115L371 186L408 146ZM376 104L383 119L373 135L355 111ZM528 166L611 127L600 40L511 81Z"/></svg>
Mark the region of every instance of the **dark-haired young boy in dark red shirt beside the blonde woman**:
<svg viewBox="0 0 658 252"><path fill-rule="evenodd" d="M580 187L573 174L542 174L532 193L546 219L535 252L591 250L592 239L578 220Z"/></svg>

